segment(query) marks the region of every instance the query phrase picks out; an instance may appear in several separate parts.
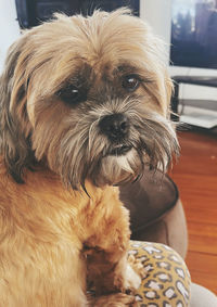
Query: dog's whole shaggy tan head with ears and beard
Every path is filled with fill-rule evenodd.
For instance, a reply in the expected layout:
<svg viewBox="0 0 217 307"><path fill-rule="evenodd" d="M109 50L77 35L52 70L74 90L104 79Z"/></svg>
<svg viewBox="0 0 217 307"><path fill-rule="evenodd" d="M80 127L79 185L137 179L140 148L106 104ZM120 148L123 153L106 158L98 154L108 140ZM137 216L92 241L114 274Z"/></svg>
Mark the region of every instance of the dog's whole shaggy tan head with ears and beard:
<svg viewBox="0 0 217 307"><path fill-rule="evenodd" d="M126 10L59 15L15 42L1 77L1 151L16 181L34 163L74 189L166 167L178 144L162 42Z"/></svg>

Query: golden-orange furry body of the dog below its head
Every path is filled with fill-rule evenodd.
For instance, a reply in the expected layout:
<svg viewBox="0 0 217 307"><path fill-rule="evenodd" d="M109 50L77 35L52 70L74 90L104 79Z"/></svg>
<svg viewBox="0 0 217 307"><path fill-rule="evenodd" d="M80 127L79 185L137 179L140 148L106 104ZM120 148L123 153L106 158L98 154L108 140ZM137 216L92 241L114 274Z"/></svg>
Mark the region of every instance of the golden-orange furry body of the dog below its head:
<svg viewBox="0 0 217 307"><path fill-rule="evenodd" d="M125 256L129 240L128 213L116 188L87 182L90 199L63 189L50 171L29 172L26 184L16 184L5 169L0 187L2 306L86 306L87 261L89 279L92 271L98 291L106 291L106 273ZM102 259L101 251L107 253Z"/></svg>

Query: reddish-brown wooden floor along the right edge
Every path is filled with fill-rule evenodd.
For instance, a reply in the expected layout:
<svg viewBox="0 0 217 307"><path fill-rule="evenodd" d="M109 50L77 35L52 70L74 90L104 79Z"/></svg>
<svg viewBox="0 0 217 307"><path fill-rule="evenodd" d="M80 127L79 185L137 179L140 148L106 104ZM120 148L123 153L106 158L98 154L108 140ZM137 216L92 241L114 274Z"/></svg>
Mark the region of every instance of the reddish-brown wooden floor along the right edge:
<svg viewBox="0 0 217 307"><path fill-rule="evenodd" d="M187 216L186 260L192 280L217 294L217 138L192 131L178 135L181 156L171 177Z"/></svg>

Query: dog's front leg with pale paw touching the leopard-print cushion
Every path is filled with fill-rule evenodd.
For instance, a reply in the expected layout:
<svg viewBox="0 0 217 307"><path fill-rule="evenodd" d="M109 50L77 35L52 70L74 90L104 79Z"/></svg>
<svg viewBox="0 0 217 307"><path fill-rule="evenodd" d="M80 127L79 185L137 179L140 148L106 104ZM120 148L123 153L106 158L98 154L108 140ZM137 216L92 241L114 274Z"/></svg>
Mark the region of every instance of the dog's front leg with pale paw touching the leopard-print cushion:
<svg viewBox="0 0 217 307"><path fill-rule="evenodd" d="M105 205L107 206L104 204L103 207ZM130 238L128 210L117 196L110 200L108 206L110 213L106 209L100 223L95 222L94 234L84 245L88 286L94 290L97 296L118 292L133 293L141 282L127 261Z"/></svg>

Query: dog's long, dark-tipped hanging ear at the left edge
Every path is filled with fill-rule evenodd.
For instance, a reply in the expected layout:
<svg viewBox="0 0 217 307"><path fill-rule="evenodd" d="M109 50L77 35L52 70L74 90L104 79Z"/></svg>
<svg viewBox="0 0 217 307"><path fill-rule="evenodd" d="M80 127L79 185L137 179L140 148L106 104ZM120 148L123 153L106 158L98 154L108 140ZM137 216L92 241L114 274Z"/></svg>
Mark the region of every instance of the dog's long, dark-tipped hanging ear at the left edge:
<svg viewBox="0 0 217 307"><path fill-rule="evenodd" d="M21 38L11 46L0 77L0 151L8 172L18 183L24 182L23 170L30 167L34 156L26 112L28 85L25 78L27 56L22 54L25 39Z"/></svg>

